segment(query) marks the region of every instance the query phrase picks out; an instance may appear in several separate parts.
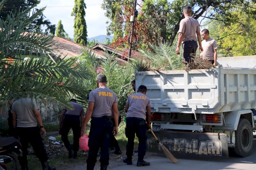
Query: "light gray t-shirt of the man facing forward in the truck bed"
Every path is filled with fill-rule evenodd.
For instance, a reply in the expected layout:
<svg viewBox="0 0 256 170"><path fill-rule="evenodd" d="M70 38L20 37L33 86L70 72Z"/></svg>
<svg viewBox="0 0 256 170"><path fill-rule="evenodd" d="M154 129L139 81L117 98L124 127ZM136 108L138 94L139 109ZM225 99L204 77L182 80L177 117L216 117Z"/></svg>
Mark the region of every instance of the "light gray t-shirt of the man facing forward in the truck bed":
<svg viewBox="0 0 256 170"><path fill-rule="evenodd" d="M201 56L204 60L214 60L214 49L217 49L217 42L212 38L202 41L203 52Z"/></svg>

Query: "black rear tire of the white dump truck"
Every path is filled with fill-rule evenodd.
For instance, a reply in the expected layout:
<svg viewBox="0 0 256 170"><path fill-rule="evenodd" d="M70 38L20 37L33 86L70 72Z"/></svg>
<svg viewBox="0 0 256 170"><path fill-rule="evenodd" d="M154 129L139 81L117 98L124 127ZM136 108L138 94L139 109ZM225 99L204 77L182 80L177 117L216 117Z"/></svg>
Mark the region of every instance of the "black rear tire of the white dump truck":
<svg viewBox="0 0 256 170"><path fill-rule="evenodd" d="M249 156L253 149L253 129L247 119L240 119L235 132L234 152L239 157Z"/></svg>

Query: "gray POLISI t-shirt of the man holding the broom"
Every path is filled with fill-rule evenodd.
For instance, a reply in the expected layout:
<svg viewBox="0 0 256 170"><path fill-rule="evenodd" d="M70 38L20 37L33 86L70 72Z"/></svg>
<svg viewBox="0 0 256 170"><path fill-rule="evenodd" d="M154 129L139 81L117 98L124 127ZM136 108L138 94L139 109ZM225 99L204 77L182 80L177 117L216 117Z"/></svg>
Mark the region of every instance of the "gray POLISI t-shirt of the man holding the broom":
<svg viewBox="0 0 256 170"><path fill-rule="evenodd" d="M135 93L128 97L126 103L129 104L126 118L136 117L146 120L146 107L151 106L150 99L143 93Z"/></svg>

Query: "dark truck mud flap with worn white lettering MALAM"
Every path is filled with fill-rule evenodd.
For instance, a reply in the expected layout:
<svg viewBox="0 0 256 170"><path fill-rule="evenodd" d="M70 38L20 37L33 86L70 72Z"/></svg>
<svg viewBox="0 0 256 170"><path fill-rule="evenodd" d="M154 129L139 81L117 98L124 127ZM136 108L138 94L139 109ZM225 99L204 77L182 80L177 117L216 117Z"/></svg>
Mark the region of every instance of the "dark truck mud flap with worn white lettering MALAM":
<svg viewBox="0 0 256 170"><path fill-rule="evenodd" d="M228 157L227 135L222 133L169 130L156 130L154 133L173 155ZM162 153L159 144L149 130L147 131L147 150Z"/></svg>

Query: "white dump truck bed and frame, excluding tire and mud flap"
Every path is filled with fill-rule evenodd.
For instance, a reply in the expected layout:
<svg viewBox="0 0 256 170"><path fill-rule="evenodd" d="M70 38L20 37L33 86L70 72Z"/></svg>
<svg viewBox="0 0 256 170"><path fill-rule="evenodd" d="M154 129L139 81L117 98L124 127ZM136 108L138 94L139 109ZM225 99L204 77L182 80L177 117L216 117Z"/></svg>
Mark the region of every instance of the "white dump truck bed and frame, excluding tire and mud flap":
<svg viewBox="0 0 256 170"><path fill-rule="evenodd" d="M219 58L218 62L221 65L214 69L136 71L136 89L146 86L151 112L161 114L161 119L152 121L154 130L225 133L228 146L235 147L241 118L255 128L256 56Z"/></svg>

